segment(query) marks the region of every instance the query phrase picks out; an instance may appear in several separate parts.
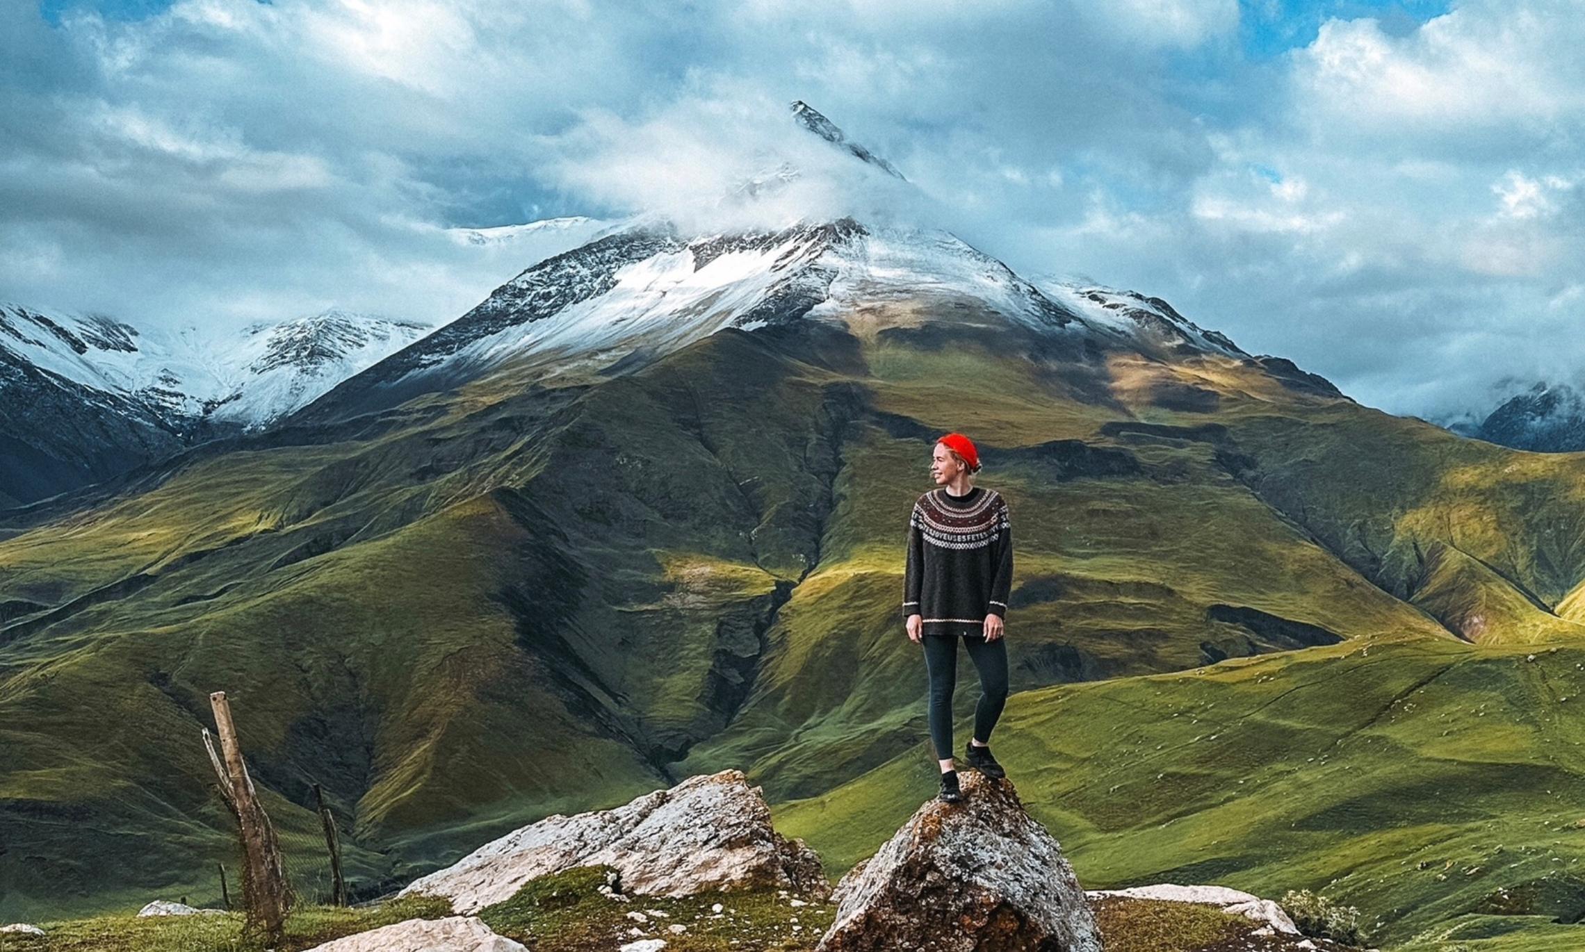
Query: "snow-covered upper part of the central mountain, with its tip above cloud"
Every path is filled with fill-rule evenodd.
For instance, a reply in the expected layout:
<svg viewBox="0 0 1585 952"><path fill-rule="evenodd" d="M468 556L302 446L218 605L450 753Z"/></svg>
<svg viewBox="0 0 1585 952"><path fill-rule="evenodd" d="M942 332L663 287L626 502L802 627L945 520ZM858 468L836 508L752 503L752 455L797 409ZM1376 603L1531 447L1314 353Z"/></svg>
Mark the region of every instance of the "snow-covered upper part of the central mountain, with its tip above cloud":
<svg viewBox="0 0 1585 952"><path fill-rule="evenodd" d="M792 114L853 158L900 177L805 103L792 103ZM751 331L799 320L837 322L865 334L886 325L956 320L1018 328L1057 347L1130 348L1163 358L1217 355L1257 361L1293 385L1336 394L1287 361L1244 353L1160 298L1059 280L1035 284L946 231L845 217L683 234L645 215L525 269L458 320L338 385L303 418L396 406L509 363L517 371L537 367L539 379L610 375L724 328Z"/></svg>

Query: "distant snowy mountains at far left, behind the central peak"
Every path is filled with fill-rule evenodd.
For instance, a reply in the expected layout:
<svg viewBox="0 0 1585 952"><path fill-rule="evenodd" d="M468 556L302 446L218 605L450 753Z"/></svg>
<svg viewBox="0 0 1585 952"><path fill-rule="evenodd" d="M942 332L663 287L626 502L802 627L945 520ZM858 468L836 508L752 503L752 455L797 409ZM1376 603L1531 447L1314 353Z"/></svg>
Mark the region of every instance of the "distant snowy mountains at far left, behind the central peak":
<svg viewBox="0 0 1585 952"><path fill-rule="evenodd" d="M0 505L268 426L428 329L327 310L200 333L0 304Z"/></svg>

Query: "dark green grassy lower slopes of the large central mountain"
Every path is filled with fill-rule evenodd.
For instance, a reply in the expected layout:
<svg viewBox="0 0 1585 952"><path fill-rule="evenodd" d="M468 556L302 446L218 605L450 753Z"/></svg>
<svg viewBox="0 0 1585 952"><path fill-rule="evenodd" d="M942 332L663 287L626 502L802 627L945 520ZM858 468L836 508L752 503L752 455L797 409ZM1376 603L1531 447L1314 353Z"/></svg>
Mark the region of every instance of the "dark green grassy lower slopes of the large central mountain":
<svg viewBox="0 0 1585 952"><path fill-rule="evenodd" d="M217 893L216 689L300 862L320 783L365 893L688 773L740 767L775 800L870 783L924 737L902 537L948 429L1011 505L1019 711L1273 651L1579 630L1580 458L1274 364L1052 344L973 301L846 317L609 379L506 367L10 513L0 919Z"/></svg>

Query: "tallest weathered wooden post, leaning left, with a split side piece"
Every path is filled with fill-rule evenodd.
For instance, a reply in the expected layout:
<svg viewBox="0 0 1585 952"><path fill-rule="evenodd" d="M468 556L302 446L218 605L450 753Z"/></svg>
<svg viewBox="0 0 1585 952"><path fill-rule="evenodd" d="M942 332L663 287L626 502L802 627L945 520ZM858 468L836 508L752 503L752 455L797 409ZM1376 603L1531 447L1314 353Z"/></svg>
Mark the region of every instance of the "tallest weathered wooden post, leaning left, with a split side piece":
<svg viewBox="0 0 1585 952"><path fill-rule="evenodd" d="M243 906L249 925L263 927L269 941L279 942L292 904L292 887L281 862L281 841L276 840L276 828L258 802L254 779L247 776L247 764L243 762L243 748L236 740L236 724L231 722L231 705L227 703L225 692L212 692L209 706L214 708L214 725L220 735L225 764L222 765L214 752L208 727L203 732L203 743L209 749L209 760L220 778L220 792L231 806L243 838Z"/></svg>

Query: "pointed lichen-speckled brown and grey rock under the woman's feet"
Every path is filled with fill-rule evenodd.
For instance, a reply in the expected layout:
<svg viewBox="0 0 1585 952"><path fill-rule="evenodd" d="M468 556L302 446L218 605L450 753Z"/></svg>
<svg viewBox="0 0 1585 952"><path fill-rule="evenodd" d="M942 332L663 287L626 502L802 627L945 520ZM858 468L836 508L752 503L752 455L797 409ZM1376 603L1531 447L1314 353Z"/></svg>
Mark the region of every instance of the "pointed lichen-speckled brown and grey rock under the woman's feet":
<svg viewBox="0 0 1585 952"><path fill-rule="evenodd" d="M832 893L818 952L1100 952L1100 930L1062 847L1008 779L962 776Z"/></svg>

